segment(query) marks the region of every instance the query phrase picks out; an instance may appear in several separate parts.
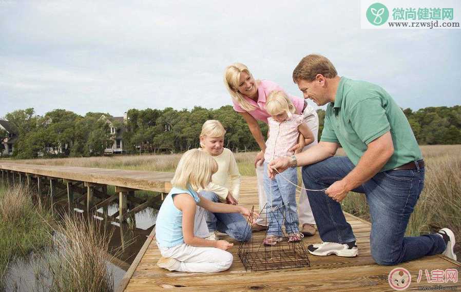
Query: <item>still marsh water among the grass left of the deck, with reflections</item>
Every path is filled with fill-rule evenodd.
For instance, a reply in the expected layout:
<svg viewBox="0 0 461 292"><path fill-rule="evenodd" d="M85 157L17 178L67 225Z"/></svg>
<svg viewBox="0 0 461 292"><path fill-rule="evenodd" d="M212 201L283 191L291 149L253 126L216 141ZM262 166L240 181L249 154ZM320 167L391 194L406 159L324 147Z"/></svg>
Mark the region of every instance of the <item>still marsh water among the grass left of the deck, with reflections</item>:
<svg viewBox="0 0 461 292"><path fill-rule="evenodd" d="M107 208L108 215L113 215L118 211L118 204L110 205ZM82 212L82 210L77 210ZM153 225L157 218L158 210L147 207L146 209L136 213L133 222L124 223L120 226L119 223L105 222L107 228L113 229L112 237L110 238L111 255L116 255L110 262L107 262L108 272L112 272L114 280L114 288L117 288L122 280L125 272L133 260L138 255L139 250L152 231ZM84 212L83 212L84 213ZM104 218L104 210L98 210L98 219ZM135 227L136 228L131 228ZM110 231L110 229L108 229ZM49 286L49 262L52 258L53 251L51 248L45 250L42 254L31 254L27 258L17 259L9 264L9 269L5 277L6 291L14 292L29 292L43 291L43 286ZM110 258L110 256L108 256ZM40 284L42 283L42 284ZM43 285L45 284L45 285Z"/></svg>

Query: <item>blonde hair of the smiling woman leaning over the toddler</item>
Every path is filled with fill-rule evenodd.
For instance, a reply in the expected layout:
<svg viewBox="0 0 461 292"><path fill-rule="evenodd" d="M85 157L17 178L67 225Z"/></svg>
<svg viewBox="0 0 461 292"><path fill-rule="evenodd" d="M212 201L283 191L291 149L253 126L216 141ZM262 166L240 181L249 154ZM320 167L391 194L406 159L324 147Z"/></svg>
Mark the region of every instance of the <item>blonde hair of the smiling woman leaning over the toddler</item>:
<svg viewBox="0 0 461 292"><path fill-rule="evenodd" d="M236 102L244 110L252 111L256 109L256 107L247 102L238 89L240 74L242 72L245 72L246 74L253 77L252 73L248 70L248 67L242 63L234 63L227 66L226 70L224 71L224 85L227 88L227 91L231 94L234 102Z"/></svg>

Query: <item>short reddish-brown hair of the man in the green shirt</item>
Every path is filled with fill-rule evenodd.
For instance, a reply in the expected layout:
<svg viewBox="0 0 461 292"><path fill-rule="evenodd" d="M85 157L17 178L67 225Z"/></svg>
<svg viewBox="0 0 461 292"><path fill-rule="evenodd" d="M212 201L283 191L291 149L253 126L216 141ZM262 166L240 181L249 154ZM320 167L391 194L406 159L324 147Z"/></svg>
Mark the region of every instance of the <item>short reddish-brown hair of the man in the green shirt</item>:
<svg viewBox="0 0 461 292"><path fill-rule="evenodd" d="M293 70L293 81L295 83L300 80L312 82L317 74L322 74L325 78L333 78L338 75L338 72L326 57L310 54L303 57L295 70Z"/></svg>

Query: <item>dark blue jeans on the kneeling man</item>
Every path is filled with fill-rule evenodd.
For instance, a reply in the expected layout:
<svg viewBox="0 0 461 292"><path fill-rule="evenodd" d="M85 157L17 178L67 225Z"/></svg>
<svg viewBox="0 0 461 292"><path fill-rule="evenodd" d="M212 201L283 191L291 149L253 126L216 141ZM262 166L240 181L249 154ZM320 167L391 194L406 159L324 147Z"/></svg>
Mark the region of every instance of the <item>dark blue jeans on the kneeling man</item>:
<svg viewBox="0 0 461 292"><path fill-rule="evenodd" d="M327 188L343 179L354 167L347 157L332 157L304 166L302 178L307 189ZM396 265L445 250L445 241L435 234L404 237L423 186L424 168L418 168L379 172L353 190L364 193L370 206L370 247L376 263ZM322 241L347 243L355 240L339 203L319 191L308 191L308 197Z"/></svg>

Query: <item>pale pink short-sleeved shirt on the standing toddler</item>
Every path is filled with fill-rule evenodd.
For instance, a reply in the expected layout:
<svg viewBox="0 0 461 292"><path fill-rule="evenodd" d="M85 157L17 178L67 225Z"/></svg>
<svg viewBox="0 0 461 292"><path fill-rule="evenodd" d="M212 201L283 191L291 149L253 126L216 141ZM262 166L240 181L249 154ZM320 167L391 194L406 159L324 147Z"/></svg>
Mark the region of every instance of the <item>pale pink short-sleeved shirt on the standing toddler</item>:
<svg viewBox="0 0 461 292"><path fill-rule="evenodd" d="M298 126L303 123L303 116L293 114L292 118L281 123L274 119L267 119L269 125L269 138L266 141L266 151L264 159L266 162L293 155L290 148L298 142L299 131Z"/></svg>

